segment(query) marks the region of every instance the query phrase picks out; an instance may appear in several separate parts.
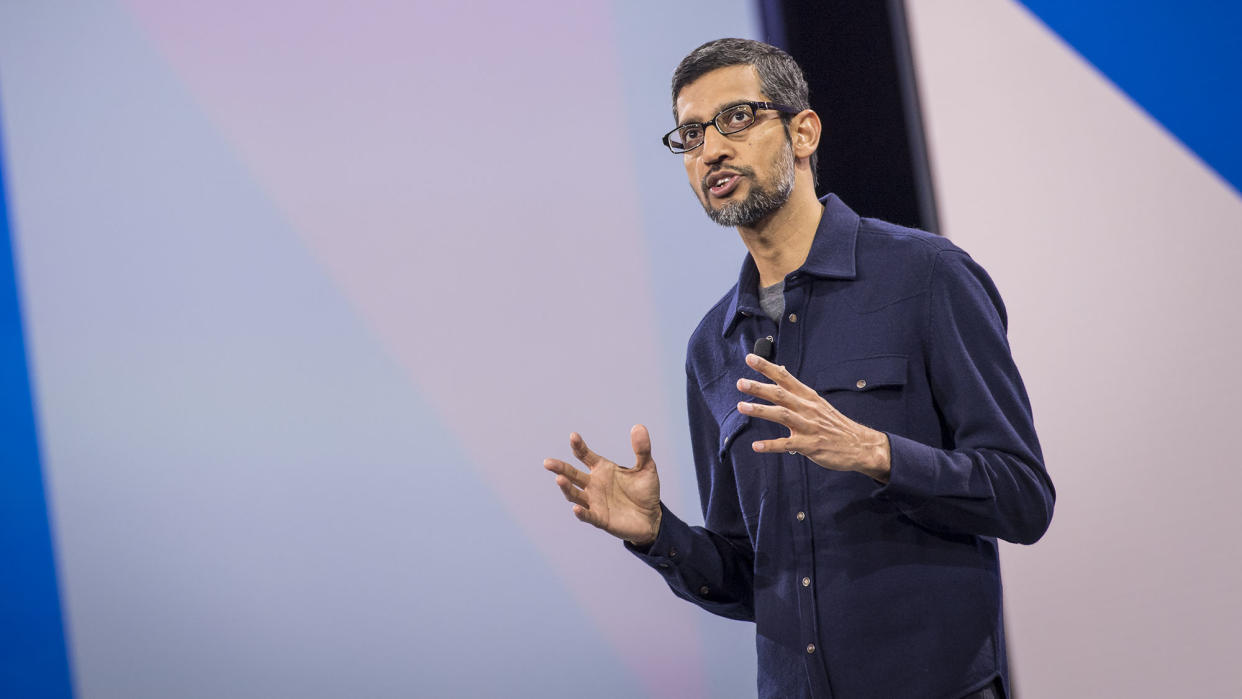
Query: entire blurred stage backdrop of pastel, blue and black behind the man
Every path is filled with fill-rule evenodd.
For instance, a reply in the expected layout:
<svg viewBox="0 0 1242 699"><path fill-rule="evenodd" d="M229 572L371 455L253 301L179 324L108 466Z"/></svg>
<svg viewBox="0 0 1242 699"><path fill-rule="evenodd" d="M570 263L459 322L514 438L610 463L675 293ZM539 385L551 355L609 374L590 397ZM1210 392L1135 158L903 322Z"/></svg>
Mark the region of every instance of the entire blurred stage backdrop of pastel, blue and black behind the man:
<svg viewBox="0 0 1242 699"><path fill-rule="evenodd" d="M0 2L0 694L753 695L753 627L540 467L643 422L700 521L683 349L745 251L658 138L720 36L1005 295L1058 489L1016 690L1242 693L1242 12L847 5Z"/></svg>

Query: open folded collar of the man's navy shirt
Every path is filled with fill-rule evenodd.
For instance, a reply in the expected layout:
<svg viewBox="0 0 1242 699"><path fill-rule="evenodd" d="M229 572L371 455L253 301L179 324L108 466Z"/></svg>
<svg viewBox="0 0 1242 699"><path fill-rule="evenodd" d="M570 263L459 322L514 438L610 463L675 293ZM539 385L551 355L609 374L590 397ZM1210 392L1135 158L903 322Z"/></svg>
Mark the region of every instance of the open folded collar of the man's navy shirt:
<svg viewBox="0 0 1242 699"><path fill-rule="evenodd" d="M786 281L794 281L796 276L804 274L826 279L853 279L856 276L854 245L858 242L858 215L835 194L825 195L820 202L823 204L823 214L820 216L820 226L815 230L811 251L806 256L806 262L791 272ZM738 274L738 286L733 289L733 299L724 314L724 328L720 334L728 336L743 317L758 313L761 313L759 268L748 253L741 261L741 273Z"/></svg>

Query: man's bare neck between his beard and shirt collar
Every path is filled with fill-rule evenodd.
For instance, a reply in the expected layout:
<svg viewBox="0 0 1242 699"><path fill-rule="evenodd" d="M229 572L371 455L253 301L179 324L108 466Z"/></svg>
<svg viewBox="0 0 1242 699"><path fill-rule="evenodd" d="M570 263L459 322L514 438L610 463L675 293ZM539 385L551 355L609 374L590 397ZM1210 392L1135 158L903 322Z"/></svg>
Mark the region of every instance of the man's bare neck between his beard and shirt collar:
<svg viewBox="0 0 1242 699"><path fill-rule="evenodd" d="M806 262L822 215L823 205L815 197L815 190L799 187L770 216L738 228L759 269L760 287L780 282Z"/></svg>

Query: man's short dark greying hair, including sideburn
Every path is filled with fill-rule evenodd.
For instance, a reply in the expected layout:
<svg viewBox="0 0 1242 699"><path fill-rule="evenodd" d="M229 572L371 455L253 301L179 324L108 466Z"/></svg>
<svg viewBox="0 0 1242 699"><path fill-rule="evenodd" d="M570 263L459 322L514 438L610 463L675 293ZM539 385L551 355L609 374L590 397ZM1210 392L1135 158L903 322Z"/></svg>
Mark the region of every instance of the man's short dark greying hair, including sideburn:
<svg viewBox="0 0 1242 699"><path fill-rule="evenodd" d="M691 51L673 71L673 120L678 118L677 96L686 86L717 68L730 66L753 66L759 73L759 87L768 99L799 110L811 108L806 76L792 56L763 41L717 38ZM787 135L789 117L782 114L781 120ZM811 154L811 173L816 183L820 179L818 158L818 153Z"/></svg>

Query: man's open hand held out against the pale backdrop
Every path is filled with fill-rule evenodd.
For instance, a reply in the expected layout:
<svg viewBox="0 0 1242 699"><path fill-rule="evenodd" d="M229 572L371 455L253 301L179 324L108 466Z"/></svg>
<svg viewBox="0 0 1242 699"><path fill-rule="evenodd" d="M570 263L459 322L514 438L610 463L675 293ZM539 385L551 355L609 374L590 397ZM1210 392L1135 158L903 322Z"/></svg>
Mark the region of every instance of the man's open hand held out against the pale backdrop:
<svg viewBox="0 0 1242 699"><path fill-rule="evenodd" d="M544 468L556 474L560 492L574 503L574 516L636 546L647 546L660 533L660 476L651 458L647 428L635 425L630 443L637 462L633 468L622 468L589 449L574 432L569 446L586 466L586 473L554 458L544 459Z"/></svg>

